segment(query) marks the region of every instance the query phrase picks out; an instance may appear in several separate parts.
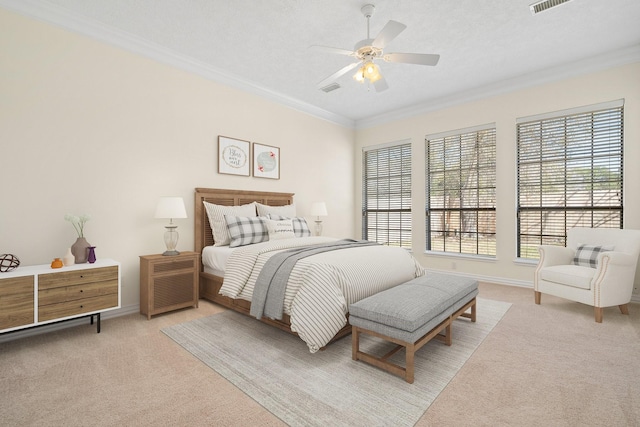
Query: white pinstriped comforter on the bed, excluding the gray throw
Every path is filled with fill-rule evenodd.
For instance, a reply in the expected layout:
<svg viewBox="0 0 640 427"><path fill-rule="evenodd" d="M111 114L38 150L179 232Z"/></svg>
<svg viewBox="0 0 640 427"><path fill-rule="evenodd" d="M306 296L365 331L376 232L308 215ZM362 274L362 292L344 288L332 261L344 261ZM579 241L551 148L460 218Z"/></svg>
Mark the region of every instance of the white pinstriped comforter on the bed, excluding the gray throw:
<svg viewBox="0 0 640 427"><path fill-rule="evenodd" d="M335 240L300 237L235 248L220 294L251 301L258 274L274 253ZM401 248L376 245L324 252L298 261L287 284L284 311L291 330L315 353L346 325L349 304L422 274L424 269Z"/></svg>

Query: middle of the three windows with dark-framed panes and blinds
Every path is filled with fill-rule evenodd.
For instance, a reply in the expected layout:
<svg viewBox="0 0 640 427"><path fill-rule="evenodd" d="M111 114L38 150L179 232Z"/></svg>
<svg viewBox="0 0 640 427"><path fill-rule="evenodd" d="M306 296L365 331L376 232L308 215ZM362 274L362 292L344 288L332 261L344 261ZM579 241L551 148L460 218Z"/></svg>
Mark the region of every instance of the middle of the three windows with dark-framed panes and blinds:
<svg viewBox="0 0 640 427"><path fill-rule="evenodd" d="M427 250L496 255L495 125L426 138Z"/></svg>

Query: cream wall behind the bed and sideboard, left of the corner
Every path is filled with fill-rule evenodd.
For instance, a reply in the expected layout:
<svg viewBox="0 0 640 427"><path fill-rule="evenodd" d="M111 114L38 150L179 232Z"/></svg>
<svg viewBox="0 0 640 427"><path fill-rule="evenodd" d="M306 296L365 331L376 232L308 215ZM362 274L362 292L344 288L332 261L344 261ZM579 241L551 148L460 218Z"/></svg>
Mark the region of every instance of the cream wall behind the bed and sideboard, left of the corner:
<svg viewBox="0 0 640 427"><path fill-rule="evenodd" d="M160 196L182 196L178 250L193 249L193 190L296 193L327 203L324 234L354 235L354 131L91 38L0 9L0 253L50 263L89 213L98 257L122 263L139 302L139 255L164 250ZM217 173L217 136L280 147L281 179Z"/></svg>

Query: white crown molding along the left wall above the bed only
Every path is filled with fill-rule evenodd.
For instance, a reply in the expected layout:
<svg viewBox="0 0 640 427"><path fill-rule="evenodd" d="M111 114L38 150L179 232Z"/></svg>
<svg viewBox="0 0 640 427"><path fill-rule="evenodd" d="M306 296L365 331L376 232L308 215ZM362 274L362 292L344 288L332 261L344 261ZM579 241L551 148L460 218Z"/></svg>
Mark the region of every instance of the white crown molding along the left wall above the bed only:
<svg viewBox="0 0 640 427"><path fill-rule="evenodd" d="M269 101L287 106L311 116L324 119L350 129L353 129L355 126L355 122L352 119L326 111L322 108L318 108L314 105L277 93L273 90L266 89L255 82L239 79L201 61L181 55L155 43L150 43L149 41L126 31L114 29L99 21L70 12L51 3L33 0L0 0L0 6L27 17L53 24L66 30L71 30L101 42L146 56L166 65L198 74L208 80L215 81L216 83L266 98Z"/></svg>

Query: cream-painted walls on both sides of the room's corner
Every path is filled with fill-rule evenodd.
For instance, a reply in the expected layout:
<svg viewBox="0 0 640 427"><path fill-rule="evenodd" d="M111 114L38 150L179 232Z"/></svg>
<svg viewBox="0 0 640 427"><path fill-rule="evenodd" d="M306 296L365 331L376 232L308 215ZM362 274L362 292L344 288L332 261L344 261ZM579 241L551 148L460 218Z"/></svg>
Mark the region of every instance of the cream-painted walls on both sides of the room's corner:
<svg viewBox="0 0 640 427"><path fill-rule="evenodd" d="M294 192L308 219L324 200L324 234L360 237L361 149L404 139L420 262L530 285L533 265L515 259L515 119L613 99L625 99L625 224L640 229L640 64L354 132L4 9L0 29L0 253L49 263L75 240L64 215L90 213L98 257L122 263L125 308L139 301L138 256L164 250L158 197L187 205L179 250L193 248L194 187ZM424 137L484 123L497 127L498 256L425 254ZM281 179L218 174L218 135L280 147Z"/></svg>

